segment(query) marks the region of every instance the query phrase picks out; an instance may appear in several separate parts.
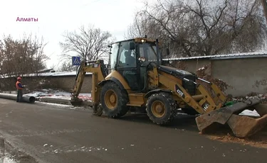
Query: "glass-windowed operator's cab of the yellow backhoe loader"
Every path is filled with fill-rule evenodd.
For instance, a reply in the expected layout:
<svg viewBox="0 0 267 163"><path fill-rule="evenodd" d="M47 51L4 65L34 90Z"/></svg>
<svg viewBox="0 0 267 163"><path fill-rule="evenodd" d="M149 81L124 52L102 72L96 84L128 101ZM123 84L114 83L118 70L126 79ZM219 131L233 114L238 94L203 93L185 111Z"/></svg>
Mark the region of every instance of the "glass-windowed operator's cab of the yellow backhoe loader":
<svg viewBox="0 0 267 163"><path fill-rule="evenodd" d="M108 73L114 70L119 72L132 91L140 92L146 89L145 75L150 62L162 62L155 40L135 38L110 45Z"/></svg>

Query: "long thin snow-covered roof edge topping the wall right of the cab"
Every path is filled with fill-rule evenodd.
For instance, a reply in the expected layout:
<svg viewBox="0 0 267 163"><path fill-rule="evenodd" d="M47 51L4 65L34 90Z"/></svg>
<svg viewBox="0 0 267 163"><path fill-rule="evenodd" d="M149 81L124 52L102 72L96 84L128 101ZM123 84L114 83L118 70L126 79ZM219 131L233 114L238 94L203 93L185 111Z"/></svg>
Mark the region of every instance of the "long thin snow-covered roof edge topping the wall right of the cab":
<svg viewBox="0 0 267 163"><path fill-rule="evenodd" d="M229 55L208 55L208 56L197 56L197 57L179 57L179 58L167 58L163 60L198 60L198 59L208 59L208 60L226 60L226 59L239 59L248 57L267 57L267 52L244 52L235 53Z"/></svg>

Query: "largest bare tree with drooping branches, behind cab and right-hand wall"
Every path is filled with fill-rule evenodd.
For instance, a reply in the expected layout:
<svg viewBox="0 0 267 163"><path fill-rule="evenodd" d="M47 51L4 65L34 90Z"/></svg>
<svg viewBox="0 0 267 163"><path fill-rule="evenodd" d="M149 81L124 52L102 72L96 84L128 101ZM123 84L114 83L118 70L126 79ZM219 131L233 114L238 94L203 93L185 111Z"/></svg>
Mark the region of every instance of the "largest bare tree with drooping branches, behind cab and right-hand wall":
<svg viewBox="0 0 267 163"><path fill-rule="evenodd" d="M266 39L261 8L258 0L145 2L128 35L158 35L177 57L251 52L263 47Z"/></svg>

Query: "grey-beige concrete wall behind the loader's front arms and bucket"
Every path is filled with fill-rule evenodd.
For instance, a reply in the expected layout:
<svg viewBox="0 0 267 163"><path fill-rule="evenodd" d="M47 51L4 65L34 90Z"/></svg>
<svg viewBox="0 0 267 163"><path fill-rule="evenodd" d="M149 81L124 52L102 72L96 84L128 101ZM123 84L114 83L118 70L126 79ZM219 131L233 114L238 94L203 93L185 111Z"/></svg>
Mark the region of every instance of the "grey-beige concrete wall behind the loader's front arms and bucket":
<svg viewBox="0 0 267 163"><path fill-rule="evenodd" d="M226 94L233 96L244 96L251 92L259 94L267 93L267 84L256 87L256 81L267 79L267 57L242 58L227 60L181 60L178 62L186 64L189 72L196 72L204 65L211 64L211 75L225 81L233 87L226 90ZM181 63L180 63L181 64Z"/></svg>

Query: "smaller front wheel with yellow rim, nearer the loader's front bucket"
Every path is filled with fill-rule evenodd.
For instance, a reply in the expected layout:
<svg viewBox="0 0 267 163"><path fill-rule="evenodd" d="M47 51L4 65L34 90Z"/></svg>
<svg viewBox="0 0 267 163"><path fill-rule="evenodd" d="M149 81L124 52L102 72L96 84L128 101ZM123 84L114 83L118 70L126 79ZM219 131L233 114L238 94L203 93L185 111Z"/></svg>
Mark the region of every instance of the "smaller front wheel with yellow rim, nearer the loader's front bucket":
<svg viewBox="0 0 267 163"><path fill-rule="evenodd" d="M164 113L162 113L162 115L159 115L160 113L158 114L158 112L156 111L156 106L154 106L156 105L156 103L163 104ZM152 94L152 96L147 99L147 116L150 117L150 120L152 120L153 123L156 123L158 125L166 125L173 120L175 116L176 106L177 104L175 103L174 99L172 99L172 96L170 94Z"/></svg>

